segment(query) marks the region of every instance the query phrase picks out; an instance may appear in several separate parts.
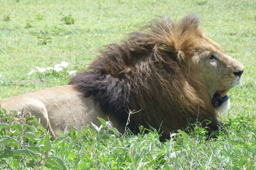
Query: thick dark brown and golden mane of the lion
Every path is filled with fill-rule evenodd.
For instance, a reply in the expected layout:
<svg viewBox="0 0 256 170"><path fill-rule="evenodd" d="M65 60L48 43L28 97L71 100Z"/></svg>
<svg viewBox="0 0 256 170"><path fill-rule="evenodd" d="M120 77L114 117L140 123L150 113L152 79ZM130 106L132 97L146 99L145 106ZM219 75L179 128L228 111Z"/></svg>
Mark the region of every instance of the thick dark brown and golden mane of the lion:
<svg viewBox="0 0 256 170"><path fill-rule="evenodd" d="M194 15L177 24L163 17L153 20L120 44L106 46L70 84L76 84L86 96L93 95L103 110L124 122L128 109L142 109L130 116L129 126L158 129L162 123L165 138L184 128L189 119L195 120L198 113L202 120L216 117L204 92L197 91L205 87L189 80L186 70L186 61L202 38L198 23Z"/></svg>

